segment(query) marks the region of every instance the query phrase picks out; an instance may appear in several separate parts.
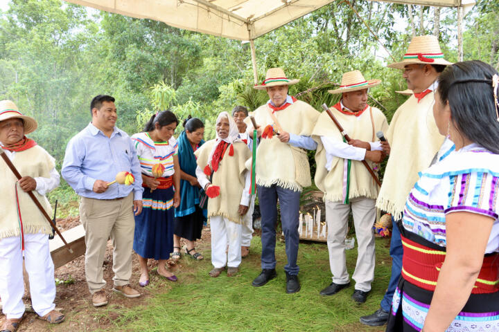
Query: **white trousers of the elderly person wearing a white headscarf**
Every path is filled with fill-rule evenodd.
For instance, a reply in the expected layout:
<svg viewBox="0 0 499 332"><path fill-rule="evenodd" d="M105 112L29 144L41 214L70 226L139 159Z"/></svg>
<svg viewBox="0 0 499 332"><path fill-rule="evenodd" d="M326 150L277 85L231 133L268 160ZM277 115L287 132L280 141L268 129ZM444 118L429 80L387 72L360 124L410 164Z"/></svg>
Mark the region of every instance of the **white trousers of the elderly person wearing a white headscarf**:
<svg viewBox="0 0 499 332"><path fill-rule="evenodd" d="M211 264L216 268L229 266L237 268L241 262L241 224L229 221L223 216L210 217ZM227 253L225 249L229 243Z"/></svg>

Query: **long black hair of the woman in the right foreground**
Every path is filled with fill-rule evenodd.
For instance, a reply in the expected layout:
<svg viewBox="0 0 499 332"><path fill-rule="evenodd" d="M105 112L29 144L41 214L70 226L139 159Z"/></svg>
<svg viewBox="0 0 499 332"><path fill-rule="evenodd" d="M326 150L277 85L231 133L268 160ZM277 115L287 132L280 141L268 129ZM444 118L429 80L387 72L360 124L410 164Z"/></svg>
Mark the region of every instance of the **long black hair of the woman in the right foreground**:
<svg viewBox="0 0 499 332"><path fill-rule="evenodd" d="M439 76L437 91L448 101L455 128L478 145L499 154L499 122L492 77L498 72L478 60L447 66Z"/></svg>

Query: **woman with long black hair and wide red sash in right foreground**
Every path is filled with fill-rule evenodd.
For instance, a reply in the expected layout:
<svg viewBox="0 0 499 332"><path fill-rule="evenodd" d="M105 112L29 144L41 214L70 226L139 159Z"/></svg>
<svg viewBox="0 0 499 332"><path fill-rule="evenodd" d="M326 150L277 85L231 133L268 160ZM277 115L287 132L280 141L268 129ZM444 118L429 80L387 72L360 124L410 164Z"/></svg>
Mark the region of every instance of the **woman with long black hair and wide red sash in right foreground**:
<svg viewBox="0 0 499 332"><path fill-rule="evenodd" d="M439 77L433 114L455 151L409 194L387 331L499 331L498 81L480 61Z"/></svg>

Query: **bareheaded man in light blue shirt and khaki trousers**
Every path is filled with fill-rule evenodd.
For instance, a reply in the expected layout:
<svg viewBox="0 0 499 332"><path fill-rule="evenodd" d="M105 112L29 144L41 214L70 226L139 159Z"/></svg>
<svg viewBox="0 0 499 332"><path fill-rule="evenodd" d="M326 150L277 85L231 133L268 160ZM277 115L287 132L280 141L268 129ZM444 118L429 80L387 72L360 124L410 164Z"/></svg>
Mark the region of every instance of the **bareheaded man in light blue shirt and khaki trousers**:
<svg viewBox="0 0 499 332"><path fill-rule="evenodd" d="M113 291L139 297L129 284L132 275L134 214L142 211L141 167L132 140L115 127L114 98L97 95L90 104L92 121L71 138L62 177L81 196L80 219L85 228L85 275L94 306L107 304L103 261L107 239L113 243ZM132 185L108 183L119 172L130 172Z"/></svg>

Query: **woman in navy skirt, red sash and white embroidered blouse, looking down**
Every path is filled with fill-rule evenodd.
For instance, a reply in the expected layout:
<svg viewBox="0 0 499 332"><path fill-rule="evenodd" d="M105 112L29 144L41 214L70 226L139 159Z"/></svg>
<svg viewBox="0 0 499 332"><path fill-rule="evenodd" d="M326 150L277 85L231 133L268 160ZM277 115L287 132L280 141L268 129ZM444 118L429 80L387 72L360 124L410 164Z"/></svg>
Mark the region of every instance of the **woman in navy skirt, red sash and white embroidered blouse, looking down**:
<svg viewBox="0 0 499 332"><path fill-rule="evenodd" d="M159 275L177 281L166 268L166 260L173 252L173 208L180 204L180 166L177 141L173 138L177 124L175 114L162 111L150 118L143 133L132 136L142 168L143 187L150 188L143 192L142 213L135 216L133 249L139 255L142 287L149 284L149 258L158 261Z"/></svg>

